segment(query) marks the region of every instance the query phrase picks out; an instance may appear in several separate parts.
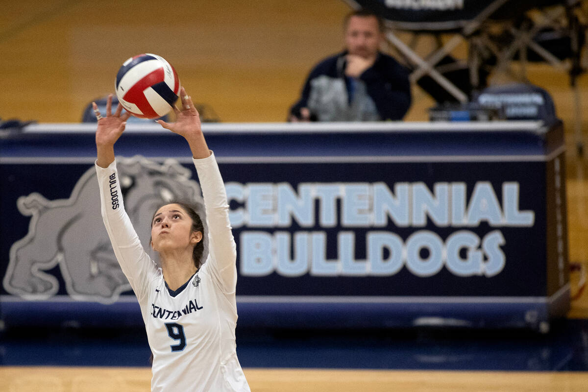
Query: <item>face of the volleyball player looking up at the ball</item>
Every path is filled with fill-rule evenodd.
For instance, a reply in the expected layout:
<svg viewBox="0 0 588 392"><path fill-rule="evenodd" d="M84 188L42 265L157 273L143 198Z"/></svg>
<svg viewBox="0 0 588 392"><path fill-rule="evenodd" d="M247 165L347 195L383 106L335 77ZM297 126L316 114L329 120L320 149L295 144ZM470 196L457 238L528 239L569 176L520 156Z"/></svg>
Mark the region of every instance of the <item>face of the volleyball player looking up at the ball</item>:
<svg viewBox="0 0 588 392"><path fill-rule="evenodd" d="M183 250L195 246L201 232L192 232L192 218L178 204L161 207L151 222L151 246L158 252Z"/></svg>

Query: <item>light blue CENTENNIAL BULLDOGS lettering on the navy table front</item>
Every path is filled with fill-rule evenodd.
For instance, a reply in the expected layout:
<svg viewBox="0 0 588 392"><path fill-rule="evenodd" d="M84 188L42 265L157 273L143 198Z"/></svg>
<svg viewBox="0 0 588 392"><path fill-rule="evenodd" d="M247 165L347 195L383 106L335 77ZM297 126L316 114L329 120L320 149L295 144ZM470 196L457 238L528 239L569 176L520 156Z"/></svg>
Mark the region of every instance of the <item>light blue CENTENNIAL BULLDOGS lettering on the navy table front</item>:
<svg viewBox="0 0 588 392"><path fill-rule="evenodd" d="M435 183L433 190L422 182L395 183L394 192L383 182L301 183L298 190L288 183L229 183L226 189L230 200L242 204L230 213L233 227L248 228L239 234L244 276L390 276L406 266L410 273L427 277L445 265L456 276L490 277L505 266L503 233L492 230L480 237L463 228L482 222L497 228L534 223L533 211L519 210L517 182L502 184L502 204L489 182L476 182L469 198L463 182ZM397 227L418 229L426 226L427 218L436 227L452 227L455 232L444 239L431 230L415 230L403 240L382 231L389 220ZM302 228L338 227L338 258L326 259L323 230L253 230L285 229L293 221ZM374 230L358 238L353 232L358 227ZM366 257L356 259L355 244L362 241Z"/></svg>

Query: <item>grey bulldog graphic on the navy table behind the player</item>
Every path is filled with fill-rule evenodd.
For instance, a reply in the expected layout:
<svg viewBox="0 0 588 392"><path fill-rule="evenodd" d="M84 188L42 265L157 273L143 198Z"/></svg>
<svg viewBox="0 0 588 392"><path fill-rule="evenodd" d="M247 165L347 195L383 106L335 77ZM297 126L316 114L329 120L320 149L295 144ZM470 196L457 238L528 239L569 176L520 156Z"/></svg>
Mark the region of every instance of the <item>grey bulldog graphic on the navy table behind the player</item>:
<svg viewBox="0 0 588 392"><path fill-rule="evenodd" d="M200 187L191 180L191 171L175 160L158 164L141 156L119 158L117 167L126 212L153 258L151 216L162 203L191 200L201 206L205 221ZM68 199L47 200L34 192L19 197L17 207L31 221L28 234L11 246L3 282L7 292L27 300L49 299L59 290L58 279L46 272L55 266L75 300L112 303L131 289L102 223L93 166L79 178Z"/></svg>

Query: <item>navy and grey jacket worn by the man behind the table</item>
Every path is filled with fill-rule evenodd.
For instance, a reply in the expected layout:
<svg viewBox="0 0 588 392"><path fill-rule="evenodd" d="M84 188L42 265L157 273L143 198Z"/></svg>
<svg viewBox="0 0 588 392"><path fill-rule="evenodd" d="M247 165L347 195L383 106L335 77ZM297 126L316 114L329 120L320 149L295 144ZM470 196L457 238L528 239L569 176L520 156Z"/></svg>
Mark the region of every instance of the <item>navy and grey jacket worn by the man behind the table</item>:
<svg viewBox="0 0 588 392"><path fill-rule="evenodd" d="M379 52L359 79L349 78L346 54L326 58L312 69L290 113L298 116L306 107L319 121L401 120L410 108L409 71Z"/></svg>

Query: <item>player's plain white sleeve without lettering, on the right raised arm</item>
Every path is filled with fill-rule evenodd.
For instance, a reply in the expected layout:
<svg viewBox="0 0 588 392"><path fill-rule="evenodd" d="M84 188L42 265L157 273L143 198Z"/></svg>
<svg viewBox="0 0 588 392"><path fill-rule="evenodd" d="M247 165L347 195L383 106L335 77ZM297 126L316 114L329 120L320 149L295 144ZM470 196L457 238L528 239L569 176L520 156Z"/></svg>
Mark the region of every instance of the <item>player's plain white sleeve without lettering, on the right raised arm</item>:
<svg viewBox="0 0 588 392"><path fill-rule="evenodd" d="M229 221L229 204L225 185L215 155L193 159L202 188L208 226L208 253L206 261L213 276L225 293L234 293L237 285L237 246Z"/></svg>

